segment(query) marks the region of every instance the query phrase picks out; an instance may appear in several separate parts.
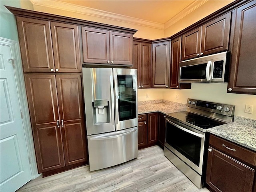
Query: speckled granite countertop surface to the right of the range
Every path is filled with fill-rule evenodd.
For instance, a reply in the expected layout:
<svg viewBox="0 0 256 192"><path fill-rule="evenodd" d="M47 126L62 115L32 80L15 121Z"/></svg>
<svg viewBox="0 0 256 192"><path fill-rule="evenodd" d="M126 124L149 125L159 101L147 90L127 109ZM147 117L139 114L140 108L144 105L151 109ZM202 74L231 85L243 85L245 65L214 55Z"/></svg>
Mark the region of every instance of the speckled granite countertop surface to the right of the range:
<svg viewBox="0 0 256 192"><path fill-rule="evenodd" d="M207 130L216 136L256 151L256 128L232 122Z"/></svg>

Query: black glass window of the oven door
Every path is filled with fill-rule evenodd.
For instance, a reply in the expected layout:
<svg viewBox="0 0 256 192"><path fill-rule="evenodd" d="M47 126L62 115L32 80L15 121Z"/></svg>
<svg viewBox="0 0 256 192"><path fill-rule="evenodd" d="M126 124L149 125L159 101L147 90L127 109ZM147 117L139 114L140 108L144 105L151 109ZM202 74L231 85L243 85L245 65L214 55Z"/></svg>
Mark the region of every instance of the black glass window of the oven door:
<svg viewBox="0 0 256 192"><path fill-rule="evenodd" d="M199 166L201 138L172 124L166 124L166 142L194 164Z"/></svg>

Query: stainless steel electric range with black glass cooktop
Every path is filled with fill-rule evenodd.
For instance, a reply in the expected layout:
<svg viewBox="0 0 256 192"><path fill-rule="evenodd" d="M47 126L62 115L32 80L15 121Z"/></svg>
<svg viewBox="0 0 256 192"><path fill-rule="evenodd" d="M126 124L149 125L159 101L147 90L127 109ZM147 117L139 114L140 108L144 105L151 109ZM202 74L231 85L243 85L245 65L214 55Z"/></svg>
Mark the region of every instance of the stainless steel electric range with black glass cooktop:
<svg viewBox="0 0 256 192"><path fill-rule="evenodd" d="M232 122L235 106L195 99L188 99L187 106L166 116L164 156L202 188L206 131Z"/></svg>

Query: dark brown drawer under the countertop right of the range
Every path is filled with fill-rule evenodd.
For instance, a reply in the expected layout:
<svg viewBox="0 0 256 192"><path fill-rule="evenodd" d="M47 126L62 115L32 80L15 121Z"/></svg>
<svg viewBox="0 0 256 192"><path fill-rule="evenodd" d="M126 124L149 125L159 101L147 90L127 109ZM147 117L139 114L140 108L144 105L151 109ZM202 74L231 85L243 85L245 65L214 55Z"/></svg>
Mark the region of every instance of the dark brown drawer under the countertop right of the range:
<svg viewBox="0 0 256 192"><path fill-rule="evenodd" d="M256 152L252 152L246 148L233 144L232 142L222 138L218 138L214 135L210 135L209 145L229 156L243 161L244 163L256 166Z"/></svg>

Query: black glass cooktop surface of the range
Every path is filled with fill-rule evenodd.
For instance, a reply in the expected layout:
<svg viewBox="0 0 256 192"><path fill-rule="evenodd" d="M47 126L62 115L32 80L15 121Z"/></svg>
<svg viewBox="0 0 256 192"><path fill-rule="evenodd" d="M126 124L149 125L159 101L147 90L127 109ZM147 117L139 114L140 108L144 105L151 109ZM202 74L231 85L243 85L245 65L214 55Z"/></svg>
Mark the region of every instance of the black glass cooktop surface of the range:
<svg viewBox="0 0 256 192"><path fill-rule="evenodd" d="M168 116L178 120L179 122L183 122L191 127L197 128L198 130L206 130L208 128L216 127L219 125L226 124L226 122L222 122L216 119L212 119L206 116L194 114L191 112L176 112L170 113Z"/></svg>

